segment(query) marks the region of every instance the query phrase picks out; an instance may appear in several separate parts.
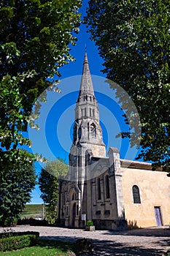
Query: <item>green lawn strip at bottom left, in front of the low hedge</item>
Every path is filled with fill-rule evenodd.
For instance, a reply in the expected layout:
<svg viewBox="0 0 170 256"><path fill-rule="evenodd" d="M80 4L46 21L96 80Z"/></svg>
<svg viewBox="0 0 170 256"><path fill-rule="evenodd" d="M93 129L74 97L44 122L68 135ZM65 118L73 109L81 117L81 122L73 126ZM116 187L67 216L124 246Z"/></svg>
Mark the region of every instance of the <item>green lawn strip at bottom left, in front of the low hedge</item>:
<svg viewBox="0 0 170 256"><path fill-rule="evenodd" d="M74 244L63 241L39 239L37 246L12 252L0 252L0 256L62 256L72 255ZM69 254L70 252L70 254Z"/></svg>

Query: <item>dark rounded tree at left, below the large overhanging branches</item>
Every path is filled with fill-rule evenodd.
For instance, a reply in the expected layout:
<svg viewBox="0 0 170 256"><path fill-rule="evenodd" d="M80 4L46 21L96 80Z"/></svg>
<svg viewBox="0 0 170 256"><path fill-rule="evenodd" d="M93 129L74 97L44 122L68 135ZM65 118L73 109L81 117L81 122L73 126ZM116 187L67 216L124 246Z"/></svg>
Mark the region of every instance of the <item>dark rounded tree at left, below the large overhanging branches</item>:
<svg viewBox="0 0 170 256"><path fill-rule="evenodd" d="M23 211L24 206L31 199L31 190L36 184L36 176L32 162L26 162L27 152L24 157L23 151L18 151L18 168L15 165L9 166L7 170L1 171L0 186L0 225L10 225L14 218L18 218ZM0 169L3 168L1 162ZM5 166L6 164L4 164Z"/></svg>

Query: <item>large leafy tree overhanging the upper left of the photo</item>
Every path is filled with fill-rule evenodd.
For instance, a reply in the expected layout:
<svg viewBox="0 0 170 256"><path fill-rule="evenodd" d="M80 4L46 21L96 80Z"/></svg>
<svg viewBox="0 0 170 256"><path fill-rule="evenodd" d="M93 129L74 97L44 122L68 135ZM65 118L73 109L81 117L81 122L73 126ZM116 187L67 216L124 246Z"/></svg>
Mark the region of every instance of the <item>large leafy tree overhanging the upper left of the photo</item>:
<svg viewBox="0 0 170 256"><path fill-rule="evenodd" d="M0 184L5 172L26 170L41 158L23 150L31 146L24 135L28 123L34 126L45 94L36 99L55 86L58 69L74 60L69 44L76 42L80 5L80 0L0 2Z"/></svg>

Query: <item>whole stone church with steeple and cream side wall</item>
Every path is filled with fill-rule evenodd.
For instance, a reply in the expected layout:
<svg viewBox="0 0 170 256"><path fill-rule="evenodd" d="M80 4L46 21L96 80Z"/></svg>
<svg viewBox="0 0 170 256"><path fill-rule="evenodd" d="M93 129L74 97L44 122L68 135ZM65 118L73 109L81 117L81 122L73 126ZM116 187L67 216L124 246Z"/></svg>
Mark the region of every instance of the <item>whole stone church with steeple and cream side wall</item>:
<svg viewBox="0 0 170 256"><path fill-rule="evenodd" d="M117 148L108 157L99 124L87 53L75 108L69 172L59 178L58 219L65 227L96 229L169 225L170 178L150 163L120 159Z"/></svg>

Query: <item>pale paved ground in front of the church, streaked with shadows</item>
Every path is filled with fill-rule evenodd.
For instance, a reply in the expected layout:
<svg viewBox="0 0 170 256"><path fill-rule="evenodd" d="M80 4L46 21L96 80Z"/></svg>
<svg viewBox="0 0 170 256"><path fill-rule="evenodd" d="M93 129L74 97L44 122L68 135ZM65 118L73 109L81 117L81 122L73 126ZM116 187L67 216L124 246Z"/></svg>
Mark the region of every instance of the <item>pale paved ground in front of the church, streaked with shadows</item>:
<svg viewBox="0 0 170 256"><path fill-rule="evenodd" d="M7 228L0 227L0 233ZM170 230L166 227L144 228L128 231L68 229L61 227L34 227L29 225L12 227L13 231L39 231L41 238L62 241L76 241L77 238L90 238L94 251L86 255L118 256L162 256L170 249Z"/></svg>

